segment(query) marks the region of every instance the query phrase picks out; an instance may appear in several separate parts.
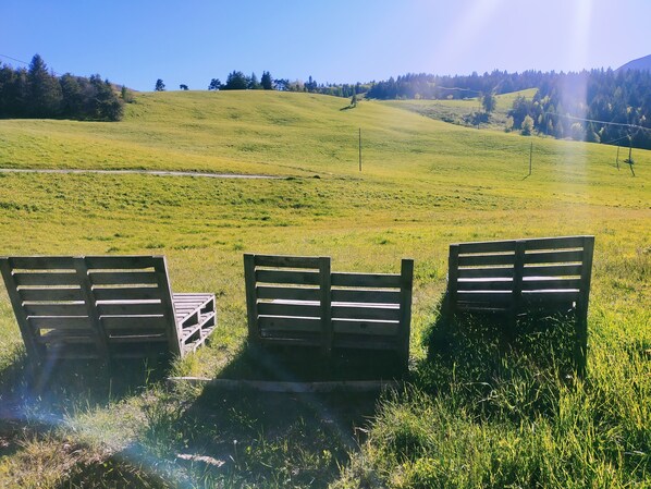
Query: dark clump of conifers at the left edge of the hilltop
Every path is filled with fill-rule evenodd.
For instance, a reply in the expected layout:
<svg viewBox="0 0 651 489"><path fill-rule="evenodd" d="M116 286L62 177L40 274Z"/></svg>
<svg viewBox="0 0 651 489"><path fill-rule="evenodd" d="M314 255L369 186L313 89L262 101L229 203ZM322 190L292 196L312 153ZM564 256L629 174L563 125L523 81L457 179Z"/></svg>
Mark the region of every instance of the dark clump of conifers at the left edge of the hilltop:
<svg viewBox="0 0 651 489"><path fill-rule="evenodd" d="M119 97L113 85L99 75L57 76L38 54L27 69L0 66L0 118L3 119L119 121L127 97L126 89Z"/></svg>

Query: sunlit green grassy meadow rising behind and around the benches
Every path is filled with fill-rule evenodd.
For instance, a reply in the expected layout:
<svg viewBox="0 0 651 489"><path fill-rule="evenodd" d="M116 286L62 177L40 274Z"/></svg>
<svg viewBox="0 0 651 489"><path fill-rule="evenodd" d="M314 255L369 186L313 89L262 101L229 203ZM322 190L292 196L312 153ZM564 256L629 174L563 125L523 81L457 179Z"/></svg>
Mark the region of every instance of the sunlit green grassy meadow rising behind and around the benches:
<svg viewBox="0 0 651 489"><path fill-rule="evenodd" d="M119 123L0 121L0 168L277 179L0 172L1 254L165 255L174 291L217 295L212 341L172 367L204 377L246 349L243 253L377 272L412 257L410 382L380 400L307 399L167 389L153 374L122 388L87 366L35 392L0 288L0 487L651 487L650 151L634 150L634 178L615 147L466 129L402 102L135 100ZM568 234L595 235L585 381L543 349L544 366L437 364L450 243Z"/></svg>

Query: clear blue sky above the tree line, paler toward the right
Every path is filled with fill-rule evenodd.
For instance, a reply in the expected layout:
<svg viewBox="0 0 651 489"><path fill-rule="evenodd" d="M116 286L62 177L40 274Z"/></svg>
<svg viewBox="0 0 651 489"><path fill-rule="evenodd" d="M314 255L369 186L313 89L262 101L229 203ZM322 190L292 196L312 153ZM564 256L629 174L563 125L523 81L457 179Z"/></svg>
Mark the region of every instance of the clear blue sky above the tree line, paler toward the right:
<svg viewBox="0 0 651 489"><path fill-rule="evenodd" d="M151 90L233 71L319 83L617 68L651 54L651 0L1 0L0 61ZM10 57L10 58L7 58Z"/></svg>

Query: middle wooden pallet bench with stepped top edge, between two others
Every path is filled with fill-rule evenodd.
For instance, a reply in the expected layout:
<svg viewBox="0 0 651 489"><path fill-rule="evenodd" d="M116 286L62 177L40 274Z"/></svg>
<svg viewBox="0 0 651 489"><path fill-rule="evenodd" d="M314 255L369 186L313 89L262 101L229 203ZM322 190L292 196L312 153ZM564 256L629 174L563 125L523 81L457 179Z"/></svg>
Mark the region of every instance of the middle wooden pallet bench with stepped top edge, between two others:
<svg viewBox="0 0 651 489"><path fill-rule="evenodd" d="M249 340L409 356L414 261L400 274L331 272L329 257L244 255Z"/></svg>

